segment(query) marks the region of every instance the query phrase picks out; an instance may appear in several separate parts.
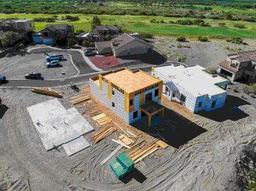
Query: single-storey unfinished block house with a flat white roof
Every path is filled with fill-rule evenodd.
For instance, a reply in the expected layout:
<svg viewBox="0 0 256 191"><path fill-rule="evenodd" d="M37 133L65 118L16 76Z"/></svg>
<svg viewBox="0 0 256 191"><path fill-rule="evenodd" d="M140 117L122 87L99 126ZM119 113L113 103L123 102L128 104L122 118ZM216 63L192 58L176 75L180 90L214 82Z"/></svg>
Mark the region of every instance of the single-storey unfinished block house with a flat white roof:
<svg viewBox="0 0 256 191"><path fill-rule="evenodd" d="M228 80L206 73L199 65L152 67L152 75L163 80L163 95L167 99L182 103L192 113L224 105Z"/></svg>

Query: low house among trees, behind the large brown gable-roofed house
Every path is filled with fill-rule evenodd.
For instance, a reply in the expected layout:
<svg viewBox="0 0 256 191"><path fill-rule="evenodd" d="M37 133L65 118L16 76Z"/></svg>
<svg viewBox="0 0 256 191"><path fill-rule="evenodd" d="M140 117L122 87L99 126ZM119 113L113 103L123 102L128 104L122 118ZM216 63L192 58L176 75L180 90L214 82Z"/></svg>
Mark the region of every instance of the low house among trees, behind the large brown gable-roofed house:
<svg viewBox="0 0 256 191"><path fill-rule="evenodd" d="M102 25L96 26L92 29L91 32L81 33L77 35L75 39L77 39L78 43L82 43L84 40L95 43L96 41L104 41L106 35L110 35L111 37L115 37L119 33L122 33L121 27L114 25Z"/></svg>

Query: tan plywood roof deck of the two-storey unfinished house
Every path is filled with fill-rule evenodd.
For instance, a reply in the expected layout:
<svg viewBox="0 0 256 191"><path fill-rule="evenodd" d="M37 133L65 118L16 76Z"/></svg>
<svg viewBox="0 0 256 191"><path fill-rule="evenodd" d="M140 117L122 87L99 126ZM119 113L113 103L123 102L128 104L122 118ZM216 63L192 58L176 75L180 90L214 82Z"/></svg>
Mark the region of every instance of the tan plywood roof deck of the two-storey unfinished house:
<svg viewBox="0 0 256 191"><path fill-rule="evenodd" d="M142 71L133 73L128 69L114 71L113 73L103 75L103 77L128 93L136 92L161 81Z"/></svg>

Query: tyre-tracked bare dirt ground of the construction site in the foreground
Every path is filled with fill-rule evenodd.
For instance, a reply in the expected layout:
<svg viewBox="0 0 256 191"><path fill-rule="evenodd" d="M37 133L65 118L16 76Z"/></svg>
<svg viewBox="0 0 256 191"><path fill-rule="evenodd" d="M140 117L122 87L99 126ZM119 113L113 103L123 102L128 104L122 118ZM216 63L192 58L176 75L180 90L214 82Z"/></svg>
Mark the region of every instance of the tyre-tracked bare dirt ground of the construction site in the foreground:
<svg viewBox="0 0 256 191"><path fill-rule="evenodd" d="M68 87L56 90L64 94L64 99L60 99L64 107L73 107L66 99L77 93ZM88 88L86 91L89 94ZM114 133L74 156L68 157L62 147L58 147L60 152L46 152L26 107L53 97L34 94L24 88L0 89L4 104L0 112L0 190L232 190L228 182L236 173L236 158L245 145L255 141L256 135L255 98L245 95L242 99L241 94L228 90L224 109L208 115L189 114L177 103L163 99L167 109L179 113L173 117L185 116L188 126L193 123L205 132L179 148L169 146L158 150L158 158L145 158L146 166L136 164L133 173L118 181L110 169L114 157L100 166L117 147L110 141L115 139ZM106 107L99 103L97 107L120 126L127 127ZM83 113L83 109L79 111ZM89 116L83 116L91 122ZM92 125L98 131L95 124ZM94 133L85 135L87 140ZM188 131L183 133L188 136Z"/></svg>

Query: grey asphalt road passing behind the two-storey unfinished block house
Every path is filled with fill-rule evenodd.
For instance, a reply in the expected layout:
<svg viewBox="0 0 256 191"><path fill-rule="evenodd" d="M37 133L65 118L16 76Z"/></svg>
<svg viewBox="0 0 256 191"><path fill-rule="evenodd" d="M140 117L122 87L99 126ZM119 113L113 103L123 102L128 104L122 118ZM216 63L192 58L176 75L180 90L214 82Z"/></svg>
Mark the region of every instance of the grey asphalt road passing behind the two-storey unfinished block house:
<svg viewBox="0 0 256 191"><path fill-rule="evenodd" d="M145 72L150 72L151 67L137 67L133 68L135 69L140 69ZM98 75L97 73L94 74L88 74L88 75L79 75L77 77L72 77L72 78L66 78L64 80L40 80L40 79L29 79L29 80L9 80L5 83L0 83L0 88L3 87L20 87L20 88L26 88L26 87L38 87L38 88L43 88L43 87L57 87L57 86L67 86L72 83L79 83L79 82L87 82L89 81L89 78L95 77Z"/></svg>

